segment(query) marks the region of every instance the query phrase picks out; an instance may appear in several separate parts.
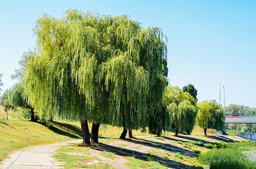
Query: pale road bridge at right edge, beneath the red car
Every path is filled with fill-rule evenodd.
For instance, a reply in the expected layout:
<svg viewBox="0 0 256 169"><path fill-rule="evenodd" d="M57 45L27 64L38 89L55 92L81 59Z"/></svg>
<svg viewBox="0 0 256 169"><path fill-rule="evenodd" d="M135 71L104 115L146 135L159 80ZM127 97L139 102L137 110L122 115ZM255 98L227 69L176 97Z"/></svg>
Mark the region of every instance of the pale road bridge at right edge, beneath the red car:
<svg viewBox="0 0 256 169"><path fill-rule="evenodd" d="M256 114L238 114L241 117L231 117L232 114L224 114L225 123L256 123Z"/></svg>

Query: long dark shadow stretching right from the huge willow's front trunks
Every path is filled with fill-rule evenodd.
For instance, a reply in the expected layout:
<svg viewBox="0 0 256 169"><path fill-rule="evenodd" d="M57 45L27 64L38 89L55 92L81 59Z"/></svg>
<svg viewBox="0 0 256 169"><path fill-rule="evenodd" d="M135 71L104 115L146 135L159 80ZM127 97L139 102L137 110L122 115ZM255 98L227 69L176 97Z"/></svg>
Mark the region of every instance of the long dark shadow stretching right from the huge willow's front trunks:
<svg viewBox="0 0 256 169"><path fill-rule="evenodd" d="M119 146L113 146L113 145L107 145L107 144L98 144L95 146L92 146L92 149L99 150L99 151L107 151L112 152L117 155L121 155L124 157L134 157L137 159L141 159L143 161L157 161L163 166L170 167L170 168L195 168L194 166L189 166L184 163L172 161L171 159L164 159L162 157L159 157L157 155L151 155L151 154L145 154L125 148L120 148Z"/></svg>

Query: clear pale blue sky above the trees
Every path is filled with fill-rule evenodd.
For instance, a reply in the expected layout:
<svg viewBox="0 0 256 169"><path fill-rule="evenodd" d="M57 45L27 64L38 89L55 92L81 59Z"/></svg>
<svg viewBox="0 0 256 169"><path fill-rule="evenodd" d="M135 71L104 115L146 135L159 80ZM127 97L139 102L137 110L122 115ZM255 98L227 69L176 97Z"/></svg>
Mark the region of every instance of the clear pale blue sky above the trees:
<svg viewBox="0 0 256 169"><path fill-rule="evenodd" d="M5 86L28 48L31 29L46 13L61 17L69 8L101 15L128 14L142 26L158 26L168 38L172 86L194 84L198 100L256 107L256 1L3 1L0 10L0 73ZM3 92L2 91L2 92Z"/></svg>

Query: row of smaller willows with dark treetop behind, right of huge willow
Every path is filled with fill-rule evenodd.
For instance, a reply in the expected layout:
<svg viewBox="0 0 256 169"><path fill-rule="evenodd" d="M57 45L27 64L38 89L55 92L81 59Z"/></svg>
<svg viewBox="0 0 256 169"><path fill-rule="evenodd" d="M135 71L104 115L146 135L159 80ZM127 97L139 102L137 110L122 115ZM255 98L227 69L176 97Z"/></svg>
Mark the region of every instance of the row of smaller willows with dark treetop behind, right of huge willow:
<svg viewBox="0 0 256 169"><path fill-rule="evenodd" d="M194 88L192 84L188 86ZM170 114L169 128L175 128L175 135L179 131L190 134L196 122L204 129L205 135L207 128L223 130L225 117L220 104L215 100L197 104L196 95L193 97L184 88L181 90L179 87L168 86L163 95L163 102L167 105L167 112ZM194 91L190 90L192 93Z"/></svg>

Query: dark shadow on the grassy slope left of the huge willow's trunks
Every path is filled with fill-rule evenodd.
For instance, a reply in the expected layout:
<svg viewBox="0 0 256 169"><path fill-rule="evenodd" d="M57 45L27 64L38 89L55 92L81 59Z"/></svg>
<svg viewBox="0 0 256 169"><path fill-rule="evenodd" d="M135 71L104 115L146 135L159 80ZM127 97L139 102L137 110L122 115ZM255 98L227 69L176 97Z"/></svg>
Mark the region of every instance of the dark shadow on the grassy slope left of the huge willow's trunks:
<svg viewBox="0 0 256 169"><path fill-rule="evenodd" d="M59 122L52 122L50 124L47 124L45 122L36 122L36 123L42 124L43 126L49 128L51 131L55 132L56 134L67 136L72 139L81 139L83 137L81 128L73 124L59 123ZM55 126L62 128L62 130L60 130Z"/></svg>

